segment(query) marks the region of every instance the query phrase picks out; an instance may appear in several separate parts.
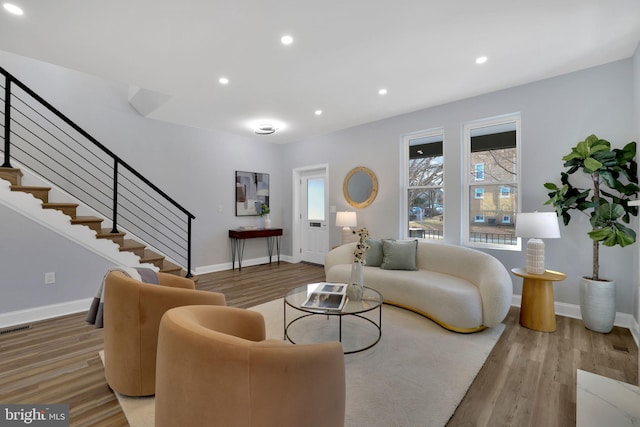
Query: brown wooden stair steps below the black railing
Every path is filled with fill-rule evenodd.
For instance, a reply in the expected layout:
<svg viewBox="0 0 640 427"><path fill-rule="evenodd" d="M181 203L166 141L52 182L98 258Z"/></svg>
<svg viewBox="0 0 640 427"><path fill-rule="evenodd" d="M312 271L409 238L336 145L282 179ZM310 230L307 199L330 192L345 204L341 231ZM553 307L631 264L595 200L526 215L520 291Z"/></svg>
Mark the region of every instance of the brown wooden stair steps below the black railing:
<svg viewBox="0 0 640 427"><path fill-rule="evenodd" d="M49 201L51 187L23 186L22 171L19 168L0 167L0 179L9 181L11 191L31 194L42 201L42 209L54 209L71 218L73 226L84 226L95 231L97 239L108 239L118 245L120 252L131 252L140 258L140 264L152 264L163 273L185 276L186 271L159 253L146 247L135 239L126 238L123 232L113 233L110 228L103 228L103 219L95 216L78 216L77 203L57 203ZM194 279L194 278L192 278Z"/></svg>

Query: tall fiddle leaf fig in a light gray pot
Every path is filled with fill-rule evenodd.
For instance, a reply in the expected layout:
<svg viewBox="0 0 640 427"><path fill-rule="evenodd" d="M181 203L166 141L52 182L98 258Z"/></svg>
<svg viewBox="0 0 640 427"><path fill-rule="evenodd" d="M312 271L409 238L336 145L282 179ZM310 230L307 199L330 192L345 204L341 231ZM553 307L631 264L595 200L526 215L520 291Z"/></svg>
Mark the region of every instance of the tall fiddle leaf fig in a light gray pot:
<svg viewBox="0 0 640 427"><path fill-rule="evenodd" d="M638 207L629 205L640 191L635 156L635 142L612 149L609 141L590 135L562 158L566 171L560 174L561 185L544 184L549 190L545 204L555 207L564 225L572 212L589 217L593 270L580 282L580 311L585 326L596 332L610 332L616 313L615 283L600 277L600 244L625 247L636 241L628 226L631 215L638 215ZM574 184L581 179L576 172L587 188Z"/></svg>

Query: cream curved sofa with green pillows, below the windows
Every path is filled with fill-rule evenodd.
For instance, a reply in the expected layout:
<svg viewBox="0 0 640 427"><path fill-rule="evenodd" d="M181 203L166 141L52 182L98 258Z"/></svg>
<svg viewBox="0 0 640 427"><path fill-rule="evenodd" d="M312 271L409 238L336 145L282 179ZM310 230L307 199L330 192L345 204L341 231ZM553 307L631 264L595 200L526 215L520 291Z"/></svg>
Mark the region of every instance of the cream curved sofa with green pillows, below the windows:
<svg viewBox="0 0 640 427"><path fill-rule="evenodd" d="M328 282L347 283L355 243L325 256ZM364 267L364 284L386 304L422 314L456 332L476 332L501 323L513 294L511 276L495 257L475 249L418 241L416 271Z"/></svg>

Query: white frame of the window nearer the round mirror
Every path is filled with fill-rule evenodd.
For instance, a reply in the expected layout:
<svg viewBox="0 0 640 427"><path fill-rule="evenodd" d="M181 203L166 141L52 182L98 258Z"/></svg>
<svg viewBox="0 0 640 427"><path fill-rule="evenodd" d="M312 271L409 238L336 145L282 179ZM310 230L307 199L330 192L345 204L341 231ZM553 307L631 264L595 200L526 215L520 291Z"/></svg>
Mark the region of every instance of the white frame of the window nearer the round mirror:
<svg viewBox="0 0 640 427"><path fill-rule="evenodd" d="M401 177L401 182L400 182L400 188L402 188L402 202L400 203L400 229L398 230L398 235L401 236L401 238L403 239L408 239L409 238L409 216L407 215L407 212L409 212L409 200L408 200L408 193L409 193L409 142L412 139L416 139L416 138L430 138L430 137L435 137L435 136L442 136L442 162L445 163L446 162L446 148L445 148L445 135L444 135L444 128L432 128L432 129L426 129L426 130L422 130L422 131L418 131L418 132L411 132L411 133L407 133L402 135L402 141L400 144L400 149L402 150L400 153L400 161L402 162L400 164L400 170L402 171L402 173L400 174ZM444 166L444 170L446 173L446 165ZM445 180L446 183L446 180ZM444 189L444 186L443 186ZM446 194L446 193L445 193ZM446 197L446 196L445 196ZM443 209L446 215L446 200L444 201L443 204ZM429 241L433 241L433 242L439 242L439 241L444 241L444 235L445 235L445 228L444 227L444 223L445 223L446 218L443 218L442 222L443 222L443 230L442 230L442 240L439 239L429 239ZM412 239L415 239L415 237L412 237Z"/></svg>

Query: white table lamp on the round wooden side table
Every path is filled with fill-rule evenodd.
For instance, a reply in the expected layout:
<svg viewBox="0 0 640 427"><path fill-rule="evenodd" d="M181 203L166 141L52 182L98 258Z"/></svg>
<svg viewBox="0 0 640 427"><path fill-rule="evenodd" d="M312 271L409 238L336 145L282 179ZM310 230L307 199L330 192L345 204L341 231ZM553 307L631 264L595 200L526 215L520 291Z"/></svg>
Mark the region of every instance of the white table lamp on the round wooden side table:
<svg viewBox="0 0 640 427"><path fill-rule="evenodd" d="M544 274L544 242L542 239L560 237L555 212L520 212L516 216L516 236L527 241L527 273Z"/></svg>

